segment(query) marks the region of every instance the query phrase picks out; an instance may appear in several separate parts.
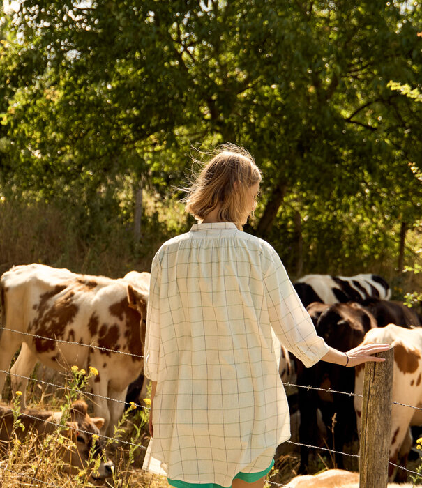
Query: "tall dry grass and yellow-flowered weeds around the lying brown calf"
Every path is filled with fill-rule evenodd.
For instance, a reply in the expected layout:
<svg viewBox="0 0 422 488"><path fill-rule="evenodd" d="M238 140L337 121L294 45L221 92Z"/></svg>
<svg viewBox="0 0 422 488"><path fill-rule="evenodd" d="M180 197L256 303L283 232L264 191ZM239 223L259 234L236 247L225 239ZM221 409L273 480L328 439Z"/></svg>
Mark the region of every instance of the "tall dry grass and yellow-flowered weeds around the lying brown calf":
<svg viewBox="0 0 422 488"><path fill-rule="evenodd" d="M89 403L91 395L84 397L84 390L88 383L89 374L73 367L63 386L68 389L56 388L54 391L55 411L62 411L61 425L52 434L40 436L27 429L24 432L20 421L20 396L17 395L10 408L13 409L15 421L10 442L0 443L0 486L14 488L20 486L55 486L89 488L103 487L131 487L144 480L145 473L140 467L146 446L148 445L148 409L135 408L134 405L123 414L123 418L116 425L113 437L105 443L107 459L114 462L114 473L107 480L95 480L90 477L91 471L96 471L100 458L90 457L86 468L70 468L63 462L66 450L75 450L72 440L75 436L66 435L63 425L68 418L70 405L75 399L83 398ZM30 397L32 407L40 408L36 397ZM46 404L43 399L43 407ZM51 405L50 405L51 406ZM48 408L47 408L48 409ZM0 419L1 421L1 419ZM105 460L105 459L103 459Z"/></svg>

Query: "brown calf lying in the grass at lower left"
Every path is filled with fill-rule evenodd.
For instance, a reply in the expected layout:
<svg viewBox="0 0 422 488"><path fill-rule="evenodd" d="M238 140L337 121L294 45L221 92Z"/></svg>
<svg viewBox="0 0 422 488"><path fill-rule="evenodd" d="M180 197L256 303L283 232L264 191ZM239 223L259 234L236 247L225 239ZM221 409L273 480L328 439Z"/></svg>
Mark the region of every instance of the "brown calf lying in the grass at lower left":
<svg viewBox="0 0 422 488"><path fill-rule="evenodd" d="M86 468L90 461L90 452L93 458L100 456L101 462L98 471L90 473L94 479L108 478L112 475L114 463L103 461L105 459L105 443L100 436L100 428L103 427L104 419L90 417L87 413L88 406L83 400L77 400L71 404L69 418L66 423L61 422L63 412L45 411L39 409L24 409L13 416L13 411L8 406L0 406L0 441L8 443L15 438L24 439L29 432L33 432L40 439L52 434L58 429L68 437L71 444L61 443L59 456L68 471L73 473L81 468ZM13 426L16 420L24 427Z"/></svg>

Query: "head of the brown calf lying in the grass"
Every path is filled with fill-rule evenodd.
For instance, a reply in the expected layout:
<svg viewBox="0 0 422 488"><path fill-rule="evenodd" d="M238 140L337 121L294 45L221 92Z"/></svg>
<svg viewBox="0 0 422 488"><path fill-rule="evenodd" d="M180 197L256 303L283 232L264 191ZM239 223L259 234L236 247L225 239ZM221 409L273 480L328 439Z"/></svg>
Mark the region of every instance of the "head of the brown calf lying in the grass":
<svg viewBox="0 0 422 488"><path fill-rule="evenodd" d="M73 402L70 407L70 418L66 422L63 435L68 437L72 443L63 445L62 459L65 464L68 464L69 471L73 472L86 468L89 464L93 466L95 459L100 457L98 470L89 469L89 474L94 479L107 478L112 475L114 463L106 460L105 444L100 436L104 419L90 417L87 411L88 406L83 400ZM61 416L62 412L53 413L47 419L46 424L51 425L49 422L60 424Z"/></svg>

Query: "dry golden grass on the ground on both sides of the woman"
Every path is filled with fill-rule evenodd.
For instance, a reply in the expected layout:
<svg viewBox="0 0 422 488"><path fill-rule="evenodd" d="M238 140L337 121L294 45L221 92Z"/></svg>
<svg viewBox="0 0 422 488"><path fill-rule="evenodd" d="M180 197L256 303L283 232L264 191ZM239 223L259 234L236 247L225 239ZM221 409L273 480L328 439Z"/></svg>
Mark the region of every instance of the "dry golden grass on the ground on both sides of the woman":
<svg viewBox="0 0 422 488"><path fill-rule="evenodd" d="M86 477L86 473L79 470L75 473L68 473L67 466L63 465L58 455L63 445L66 446L66 442L69 442L68 439L63 438L57 432L56 436L52 436L47 442L40 443L35 435L29 434L24 441L13 442L8 450L5 445L0 445L0 487L43 487L52 484L65 488L129 488L135 486L168 488L165 477L151 475L142 470L144 455L149 443L146 418L147 415L140 410L128 413L116 431L116 441L107 446L107 459L111 459L116 466L113 478L93 481ZM140 447L133 449L125 444L125 441L136 443ZM357 448L357 443L354 443L354 445L347 446L345 451L356 452ZM276 465L269 473L267 487L288 485L289 480L298 474L299 461L299 454L294 451L278 457ZM347 457L345 462L345 468L348 471L359 471L356 458ZM408 468L415 471L420 464L419 460L412 461L409 462ZM324 455L324 457L317 455L310 464L310 472L318 473L332 467L332 459L328 455Z"/></svg>

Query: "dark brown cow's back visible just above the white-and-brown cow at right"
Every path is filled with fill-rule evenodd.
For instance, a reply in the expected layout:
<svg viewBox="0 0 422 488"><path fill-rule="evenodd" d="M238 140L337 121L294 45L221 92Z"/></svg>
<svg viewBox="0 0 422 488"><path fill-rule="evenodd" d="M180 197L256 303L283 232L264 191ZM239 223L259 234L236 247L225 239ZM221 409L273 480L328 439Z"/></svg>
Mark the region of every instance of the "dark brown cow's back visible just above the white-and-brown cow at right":
<svg viewBox="0 0 422 488"><path fill-rule="evenodd" d="M410 326L422 326L422 319L419 314L404 303L395 300L367 298L363 300L362 305L375 317L378 327L385 327L389 323L395 323L396 326L407 328Z"/></svg>

